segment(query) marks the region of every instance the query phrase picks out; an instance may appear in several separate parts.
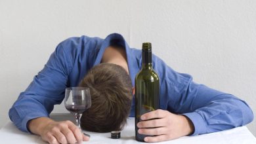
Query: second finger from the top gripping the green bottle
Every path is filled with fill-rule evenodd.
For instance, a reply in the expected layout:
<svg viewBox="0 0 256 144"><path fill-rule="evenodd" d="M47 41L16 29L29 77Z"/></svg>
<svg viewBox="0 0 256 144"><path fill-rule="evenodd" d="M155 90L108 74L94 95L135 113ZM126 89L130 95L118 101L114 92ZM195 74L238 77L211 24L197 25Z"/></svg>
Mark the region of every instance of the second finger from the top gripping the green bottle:
<svg viewBox="0 0 256 144"><path fill-rule="evenodd" d="M153 119L153 120L138 122L137 126L138 128L156 128L156 127L166 126L166 124L167 124L166 119L160 118L160 119Z"/></svg>

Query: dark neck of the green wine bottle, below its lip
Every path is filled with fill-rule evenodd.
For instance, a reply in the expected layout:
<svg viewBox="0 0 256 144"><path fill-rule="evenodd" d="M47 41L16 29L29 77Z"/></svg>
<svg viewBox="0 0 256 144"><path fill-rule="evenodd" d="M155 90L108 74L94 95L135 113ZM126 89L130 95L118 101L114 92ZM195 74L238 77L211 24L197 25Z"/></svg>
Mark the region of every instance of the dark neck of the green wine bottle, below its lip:
<svg viewBox="0 0 256 144"><path fill-rule="evenodd" d="M153 69L151 50L142 50L142 69Z"/></svg>

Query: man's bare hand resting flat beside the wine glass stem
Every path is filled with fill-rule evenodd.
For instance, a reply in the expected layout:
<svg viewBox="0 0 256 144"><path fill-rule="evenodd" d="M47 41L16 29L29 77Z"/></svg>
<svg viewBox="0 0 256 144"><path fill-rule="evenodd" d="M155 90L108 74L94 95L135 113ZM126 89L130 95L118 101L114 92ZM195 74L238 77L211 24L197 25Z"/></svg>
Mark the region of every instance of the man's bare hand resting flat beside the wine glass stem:
<svg viewBox="0 0 256 144"><path fill-rule="evenodd" d="M40 117L30 120L28 128L33 134L40 135L49 143L81 143L89 141L89 137L83 135L81 130L69 120L56 122L51 118Z"/></svg>

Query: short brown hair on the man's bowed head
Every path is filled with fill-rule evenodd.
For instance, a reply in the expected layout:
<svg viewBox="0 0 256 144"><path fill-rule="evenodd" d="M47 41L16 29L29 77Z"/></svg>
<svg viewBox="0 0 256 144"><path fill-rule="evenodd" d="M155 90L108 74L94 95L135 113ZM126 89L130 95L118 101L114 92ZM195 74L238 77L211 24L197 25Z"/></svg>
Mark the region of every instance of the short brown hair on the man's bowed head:
<svg viewBox="0 0 256 144"><path fill-rule="evenodd" d="M81 128L91 132L122 130L131 111L132 84L123 67L100 63L79 86L90 88L91 108L81 117Z"/></svg>

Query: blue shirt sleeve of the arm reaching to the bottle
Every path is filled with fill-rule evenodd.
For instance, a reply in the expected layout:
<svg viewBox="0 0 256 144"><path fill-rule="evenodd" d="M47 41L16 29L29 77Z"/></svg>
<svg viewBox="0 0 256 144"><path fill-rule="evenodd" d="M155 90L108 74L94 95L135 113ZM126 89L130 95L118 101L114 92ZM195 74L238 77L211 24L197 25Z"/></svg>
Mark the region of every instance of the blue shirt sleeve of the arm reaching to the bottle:
<svg viewBox="0 0 256 144"><path fill-rule="evenodd" d="M190 118L195 128L192 135L244 126L253 120L245 101L197 84L190 75L177 73L156 56L154 62L161 80L161 109Z"/></svg>

